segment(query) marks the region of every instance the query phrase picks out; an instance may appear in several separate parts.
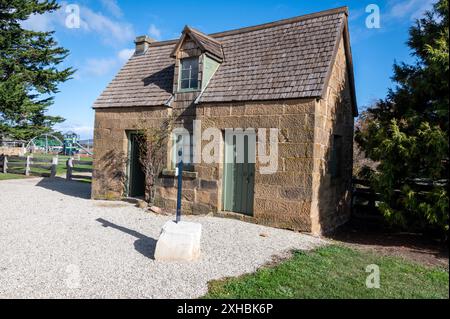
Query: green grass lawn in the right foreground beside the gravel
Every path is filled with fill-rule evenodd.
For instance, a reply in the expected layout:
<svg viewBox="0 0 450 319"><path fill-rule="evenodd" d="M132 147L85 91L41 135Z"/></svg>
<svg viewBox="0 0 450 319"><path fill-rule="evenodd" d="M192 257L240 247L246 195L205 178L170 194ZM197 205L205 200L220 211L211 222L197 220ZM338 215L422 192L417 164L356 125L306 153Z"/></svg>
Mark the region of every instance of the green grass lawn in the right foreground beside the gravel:
<svg viewBox="0 0 450 319"><path fill-rule="evenodd" d="M366 287L366 267L380 268L380 289ZM449 298L448 271L341 246L295 252L254 274L213 281L204 298Z"/></svg>

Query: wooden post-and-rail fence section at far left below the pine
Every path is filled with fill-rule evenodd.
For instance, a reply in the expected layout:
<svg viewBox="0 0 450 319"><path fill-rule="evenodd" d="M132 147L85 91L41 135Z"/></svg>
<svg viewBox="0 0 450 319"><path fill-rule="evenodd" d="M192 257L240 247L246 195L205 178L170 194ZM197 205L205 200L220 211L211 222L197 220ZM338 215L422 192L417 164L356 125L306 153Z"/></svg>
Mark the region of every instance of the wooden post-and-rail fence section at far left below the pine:
<svg viewBox="0 0 450 319"><path fill-rule="evenodd" d="M31 175L33 168L41 170L48 170L44 173L39 173L41 176L50 178L56 177L56 171L58 166L58 158L52 159L33 158L32 156L0 156L0 172L11 174L23 174L26 176Z"/></svg>

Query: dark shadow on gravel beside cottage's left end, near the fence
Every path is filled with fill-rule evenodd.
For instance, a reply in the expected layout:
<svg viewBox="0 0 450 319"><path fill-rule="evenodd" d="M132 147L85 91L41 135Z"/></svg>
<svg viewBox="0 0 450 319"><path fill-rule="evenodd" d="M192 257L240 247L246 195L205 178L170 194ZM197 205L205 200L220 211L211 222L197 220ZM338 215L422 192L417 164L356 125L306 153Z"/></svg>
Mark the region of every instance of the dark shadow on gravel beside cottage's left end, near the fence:
<svg viewBox="0 0 450 319"><path fill-rule="evenodd" d="M89 183L67 181L64 178L56 177L53 179L44 178L36 186L71 197L91 198L91 184Z"/></svg>

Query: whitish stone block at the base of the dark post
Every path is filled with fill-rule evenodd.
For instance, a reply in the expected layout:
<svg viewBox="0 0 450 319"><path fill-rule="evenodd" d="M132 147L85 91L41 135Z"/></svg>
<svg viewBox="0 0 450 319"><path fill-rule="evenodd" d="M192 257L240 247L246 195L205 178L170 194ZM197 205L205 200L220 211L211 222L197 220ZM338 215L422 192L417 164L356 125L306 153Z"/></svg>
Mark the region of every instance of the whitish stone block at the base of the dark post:
<svg viewBox="0 0 450 319"><path fill-rule="evenodd" d="M165 262L198 260L201 236L201 224L167 222L156 244L155 260Z"/></svg>

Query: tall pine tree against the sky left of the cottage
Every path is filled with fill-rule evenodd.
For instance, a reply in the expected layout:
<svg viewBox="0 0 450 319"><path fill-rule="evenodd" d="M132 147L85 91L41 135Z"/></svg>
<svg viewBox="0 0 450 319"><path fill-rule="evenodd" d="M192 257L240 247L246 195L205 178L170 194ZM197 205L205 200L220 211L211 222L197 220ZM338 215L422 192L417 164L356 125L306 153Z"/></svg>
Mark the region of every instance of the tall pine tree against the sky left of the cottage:
<svg viewBox="0 0 450 319"><path fill-rule="evenodd" d="M68 50L58 46L54 32L22 27L31 15L57 9L56 1L0 0L0 137L27 140L64 121L46 112L58 84L74 72L57 68Z"/></svg>

